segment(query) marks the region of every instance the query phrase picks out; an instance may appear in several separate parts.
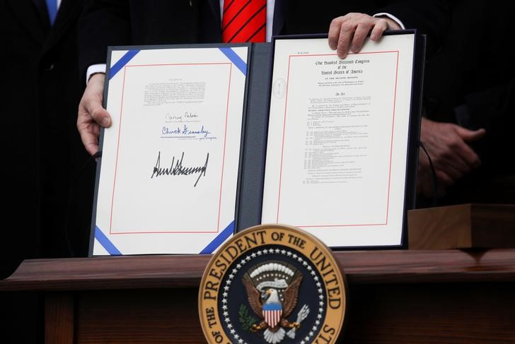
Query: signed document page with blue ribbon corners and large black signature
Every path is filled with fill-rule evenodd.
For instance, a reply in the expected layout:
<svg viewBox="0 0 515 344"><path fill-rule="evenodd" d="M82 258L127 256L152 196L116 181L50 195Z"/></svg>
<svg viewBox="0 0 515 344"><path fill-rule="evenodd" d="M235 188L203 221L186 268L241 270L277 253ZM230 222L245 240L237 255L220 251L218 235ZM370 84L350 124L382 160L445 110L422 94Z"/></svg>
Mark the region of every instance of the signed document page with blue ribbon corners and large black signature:
<svg viewBox="0 0 515 344"><path fill-rule="evenodd" d="M232 235L248 49L112 50L93 255L211 253Z"/></svg>

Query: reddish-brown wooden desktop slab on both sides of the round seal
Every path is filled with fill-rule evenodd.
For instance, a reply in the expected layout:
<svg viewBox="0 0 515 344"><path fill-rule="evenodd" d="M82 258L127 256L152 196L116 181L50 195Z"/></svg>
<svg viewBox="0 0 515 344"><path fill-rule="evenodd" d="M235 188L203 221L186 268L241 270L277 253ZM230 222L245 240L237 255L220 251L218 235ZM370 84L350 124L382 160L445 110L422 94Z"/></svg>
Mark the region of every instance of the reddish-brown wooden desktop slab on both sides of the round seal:
<svg viewBox="0 0 515 344"><path fill-rule="evenodd" d="M337 251L352 284L515 281L515 249ZM0 290L198 287L210 255L34 259Z"/></svg>

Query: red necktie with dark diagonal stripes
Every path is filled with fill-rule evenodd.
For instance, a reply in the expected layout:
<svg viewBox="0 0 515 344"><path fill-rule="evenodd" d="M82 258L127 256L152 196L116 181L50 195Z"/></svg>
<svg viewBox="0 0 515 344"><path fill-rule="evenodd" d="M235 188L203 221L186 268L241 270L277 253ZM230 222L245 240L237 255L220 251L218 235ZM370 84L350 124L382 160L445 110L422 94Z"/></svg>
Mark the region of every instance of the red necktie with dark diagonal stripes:
<svg viewBox="0 0 515 344"><path fill-rule="evenodd" d="M224 1L223 42L265 42L266 32L267 0Z"/></svg>

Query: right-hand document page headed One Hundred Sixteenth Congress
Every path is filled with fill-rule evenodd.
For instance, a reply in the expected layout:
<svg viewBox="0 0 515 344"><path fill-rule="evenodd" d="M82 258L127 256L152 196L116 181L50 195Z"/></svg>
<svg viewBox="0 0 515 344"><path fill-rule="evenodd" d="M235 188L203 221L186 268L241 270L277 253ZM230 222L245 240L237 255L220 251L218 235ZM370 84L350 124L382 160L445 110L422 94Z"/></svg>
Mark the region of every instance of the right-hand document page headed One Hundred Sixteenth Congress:
<svg viewBox="0 0 515 344"><path fill-rule="evenodd" d="M327 38L275 41L262 223L330 247L401 244L414 42L340 59Z"/></svg>

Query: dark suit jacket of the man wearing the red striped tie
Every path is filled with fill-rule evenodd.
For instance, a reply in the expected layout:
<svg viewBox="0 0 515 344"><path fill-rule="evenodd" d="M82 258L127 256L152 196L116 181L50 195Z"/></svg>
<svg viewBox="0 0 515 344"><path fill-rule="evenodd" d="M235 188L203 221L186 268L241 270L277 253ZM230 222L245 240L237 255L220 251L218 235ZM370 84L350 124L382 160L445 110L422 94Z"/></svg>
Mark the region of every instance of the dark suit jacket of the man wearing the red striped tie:
<svg viewBox="0 0 515 344"><path fill-rule="evenodd" d="M327 33L332 18L349 12L397 16L439 45L449 20L446 1L277 0L274 34ZM316 4L316 6L313 6ZM220 42L219 0L93 0L81 18L80 65L103 64L109 45Z"/></svg>

